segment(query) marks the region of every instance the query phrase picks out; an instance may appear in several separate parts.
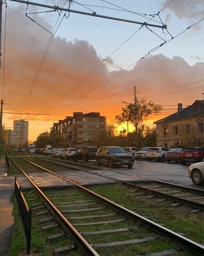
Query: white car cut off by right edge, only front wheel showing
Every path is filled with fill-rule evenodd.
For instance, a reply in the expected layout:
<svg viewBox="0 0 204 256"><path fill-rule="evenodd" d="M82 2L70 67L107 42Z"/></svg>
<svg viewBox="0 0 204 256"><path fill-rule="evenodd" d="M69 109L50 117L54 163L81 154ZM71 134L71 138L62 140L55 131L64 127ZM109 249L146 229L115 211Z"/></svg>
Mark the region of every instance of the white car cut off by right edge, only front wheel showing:
<svg viewBox="0 0 204 256"><path fill-rule="evenodd" d="M188 177L191 178L195 185L203 185L204 162L191 164L188 168Z"/></svg>

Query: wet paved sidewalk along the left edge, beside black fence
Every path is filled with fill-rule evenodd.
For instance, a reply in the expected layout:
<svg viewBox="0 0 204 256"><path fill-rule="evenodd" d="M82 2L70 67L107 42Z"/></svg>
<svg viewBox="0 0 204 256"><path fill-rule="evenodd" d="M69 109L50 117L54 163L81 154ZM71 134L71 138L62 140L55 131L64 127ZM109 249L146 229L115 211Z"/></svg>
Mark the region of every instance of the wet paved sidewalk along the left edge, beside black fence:
<svg viewBox="0 0 204 256"><path fill-rule="evenodd" d="M13 233L11 196L14 193L14 176L8 175L5 158L0 160L0 256L8 256Z"/></svg>

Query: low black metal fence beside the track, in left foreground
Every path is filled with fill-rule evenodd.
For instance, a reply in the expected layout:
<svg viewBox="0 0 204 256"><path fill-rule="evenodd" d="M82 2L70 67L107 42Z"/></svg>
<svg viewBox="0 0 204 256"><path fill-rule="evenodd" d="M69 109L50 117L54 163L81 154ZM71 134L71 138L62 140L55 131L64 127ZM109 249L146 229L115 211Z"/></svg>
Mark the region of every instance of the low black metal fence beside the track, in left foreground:
<svg viewBox="0 0 204 256"><path fill-rule="evenodd" d="M21 191L21 187L18 185L18 182L15 177L15 186L14 186L14 193L16 196L16 201L18 203L18 215L22 219L24 232L26 235L27 241L27 255L30 254L30 240L31 240L31 220L32 220L32 208L29 208L24 195Z"/></svg>

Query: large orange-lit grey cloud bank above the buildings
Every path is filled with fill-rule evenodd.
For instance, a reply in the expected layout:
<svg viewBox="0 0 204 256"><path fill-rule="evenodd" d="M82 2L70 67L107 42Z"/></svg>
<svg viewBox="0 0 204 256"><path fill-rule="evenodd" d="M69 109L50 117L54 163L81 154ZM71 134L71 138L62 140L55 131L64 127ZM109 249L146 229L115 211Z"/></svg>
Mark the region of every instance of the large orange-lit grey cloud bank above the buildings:
<svg viewBox="0 0 204 256"><path fill-rule="evenodd" d="M35 15L35 19L52 31L52 26L44 18ZM8 7L6 26L8 37L4 79L5 112L9 109L9 112L22 113L23 109L18 109L17 106L26 104L25 113L50 114L25 114L23 117L8 114L8 119L26 118L32 123L52 123L72 115L75 111L92 111L100 112L108 121L112 121L121 113L121 101L134 102L134 86L138 97L152 100L155 104L170 105L190 97L193 103L193 98L201 90L196 87L204 86L204 83L198 83L180 87L183 84L204 80L203 62L190 66L185 59L178 56L169 58L163 54L149 55L133 66L132 70L121 72L120 67L110 69L110 66L114 66L111 58L102 63L104 58L98 55L94 45L87 40L67 41L62 37L54 37L52 40L38 74L37 70L50 34L26 18L24 9L20 7ZM19 29L16 29L17 27ZM94 69L96 70L92 72ZM111 79L112 77L114 78ZM166 90L170 87L177 88ZM194 90L185 91L190 88ZM174 94L164 94L176 90L178 92ZM161 96L162 93L164 95ZM15 108L12 109L10 105Z"/></svg>

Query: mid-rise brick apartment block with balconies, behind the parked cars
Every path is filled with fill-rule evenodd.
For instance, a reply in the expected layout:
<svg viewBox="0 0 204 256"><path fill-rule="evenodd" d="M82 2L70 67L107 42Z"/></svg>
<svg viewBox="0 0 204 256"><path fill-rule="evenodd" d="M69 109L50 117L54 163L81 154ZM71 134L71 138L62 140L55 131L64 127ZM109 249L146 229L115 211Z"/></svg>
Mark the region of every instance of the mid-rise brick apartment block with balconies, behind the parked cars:
<svg viewBox="0 0 204 256"><path fill-rule="evenodd" d="M98 112L74 112L73 117L69 116L58 123L53 123L50 129L50 136L60 138L61 145L90 145L94 136L100 131L105 131L106 117L100 116Z"/></svg>

